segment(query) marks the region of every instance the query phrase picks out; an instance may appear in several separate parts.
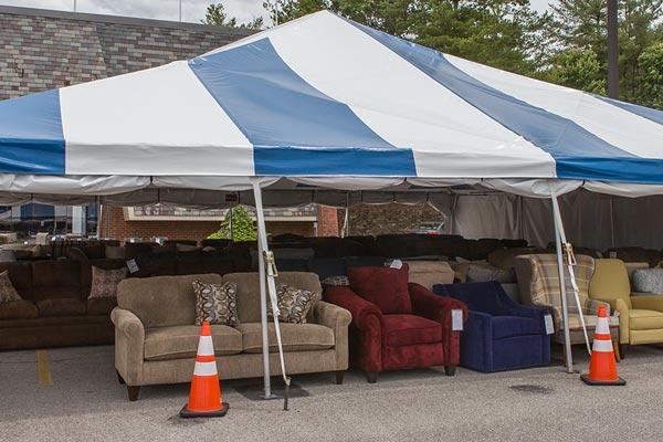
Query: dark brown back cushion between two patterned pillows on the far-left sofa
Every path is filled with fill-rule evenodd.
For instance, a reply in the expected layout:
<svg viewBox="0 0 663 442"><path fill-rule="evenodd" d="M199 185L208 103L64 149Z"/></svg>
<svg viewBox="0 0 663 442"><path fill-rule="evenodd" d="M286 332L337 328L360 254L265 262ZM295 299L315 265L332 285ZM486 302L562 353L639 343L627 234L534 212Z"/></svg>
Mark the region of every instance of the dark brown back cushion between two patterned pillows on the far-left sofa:
<svg viewBox="0 0 663 442"><path fill-rule="evenodd" d="M72 260L32 263L34 301L82 299L81 263Z"/></svg>

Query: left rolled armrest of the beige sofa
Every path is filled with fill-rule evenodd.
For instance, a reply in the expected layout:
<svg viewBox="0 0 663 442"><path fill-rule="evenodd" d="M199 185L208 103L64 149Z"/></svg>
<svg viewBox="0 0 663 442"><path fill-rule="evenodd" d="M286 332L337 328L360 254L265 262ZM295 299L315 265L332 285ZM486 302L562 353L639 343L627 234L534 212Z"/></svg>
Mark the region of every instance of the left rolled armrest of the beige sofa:
<svg viewBox="0 0 663 442"><path fill-rule="evenodd" d="M145 327L130 311L115 307L115 368L128 386L139 386L145 351Z"/></svg>

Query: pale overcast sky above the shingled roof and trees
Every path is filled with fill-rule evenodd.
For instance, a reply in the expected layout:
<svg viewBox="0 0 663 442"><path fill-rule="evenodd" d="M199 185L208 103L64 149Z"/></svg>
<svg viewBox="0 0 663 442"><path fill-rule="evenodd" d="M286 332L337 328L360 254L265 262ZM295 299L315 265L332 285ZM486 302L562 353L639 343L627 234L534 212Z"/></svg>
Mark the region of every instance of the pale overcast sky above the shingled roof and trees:
<svg viewBox="0 0 663 442"><path fill-rule="evenodd" d="M217 0L218 1L218 0ZM73 11L110 15L138 17L143 19L179 20L179 0L0 0L0 4ZM181 0L182 21L199 23L204 18L208 4L214 0ZM228 17L238 22L251 21L257 15L266 19L263 0L222 0ZM555 0L530 0L538 11L548 8Z"/></svg>

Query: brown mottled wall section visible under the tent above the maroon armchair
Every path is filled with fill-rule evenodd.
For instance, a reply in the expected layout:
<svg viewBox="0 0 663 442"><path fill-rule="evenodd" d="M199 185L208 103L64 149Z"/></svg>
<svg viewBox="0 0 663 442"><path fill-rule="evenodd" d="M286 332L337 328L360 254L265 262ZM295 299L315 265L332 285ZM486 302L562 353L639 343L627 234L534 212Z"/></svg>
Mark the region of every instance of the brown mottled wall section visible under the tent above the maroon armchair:
<svg viewBox="0 0 663 442"><path fill-rule="evenodd" d="M343 225L345 209L338 210ZM423 221L440 221L442 214L429 204L357 204L350 208L351 235L409 233Z"/></svg>

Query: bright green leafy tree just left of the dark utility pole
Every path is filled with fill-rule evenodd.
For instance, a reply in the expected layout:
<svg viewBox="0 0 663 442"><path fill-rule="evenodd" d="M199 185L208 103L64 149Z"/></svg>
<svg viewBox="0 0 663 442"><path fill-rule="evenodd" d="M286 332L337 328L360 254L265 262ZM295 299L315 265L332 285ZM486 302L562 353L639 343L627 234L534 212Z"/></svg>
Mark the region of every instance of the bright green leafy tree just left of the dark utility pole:
<svg viewBox="0 0 663 442"><path fill-rule="evenodd" d="M551 60L551 67L544 80L564 86L590 92L593 94L606 94L607 81L600 76L601 64L597 54L588 49L581 51L572 49L560 52Z"/></svg>

